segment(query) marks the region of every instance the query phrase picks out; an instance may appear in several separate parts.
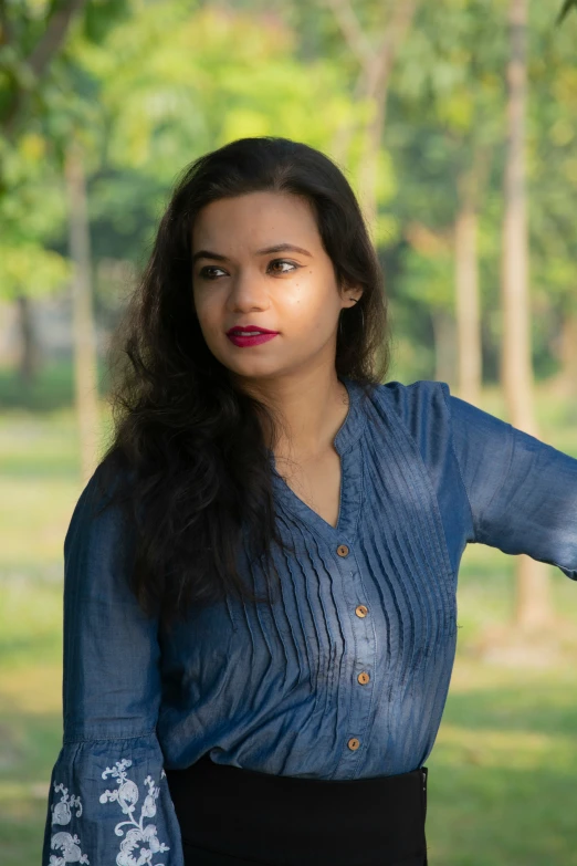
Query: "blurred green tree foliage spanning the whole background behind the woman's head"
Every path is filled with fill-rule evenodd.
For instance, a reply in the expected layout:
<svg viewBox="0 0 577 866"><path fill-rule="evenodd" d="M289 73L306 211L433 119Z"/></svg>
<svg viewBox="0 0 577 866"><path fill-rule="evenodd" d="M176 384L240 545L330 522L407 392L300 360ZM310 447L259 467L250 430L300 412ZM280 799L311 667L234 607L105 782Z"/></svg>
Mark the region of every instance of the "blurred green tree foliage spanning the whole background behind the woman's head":
<svg viewBox="0 0 577 866"><path fill-rule="evenodd" d="M391 2L355 3L369 40ZM13 36L0 45L0 116L14 87L29 102L18 135L0 145L8 190L0 196L0 296L67 285L62 166L72 137L83 145L88 173L96 310L111 324L128 285L103 277L114 270L108 263L144 263L171 185L200 154L263 134L331 154L348 128L343 167L357 187L359 131L371 106L354 96L358 59L327 3L90 0L34 82L27 58L54 8L42 0L7 4ZM556 28L548 4L531 3L529 11L531 272L535 314L554 323L576 298L577 18ZM490 371L499 352L506 51L502 0L419 4L392 71L378 166L376 241L401 264L387 273L387 286L411 345L430 340L434 309L451 309L462 182L484 163L478 204ZM439 243L416 246L427 232L442 254ZM553 363L552 340L548 326L539 330L542 372ZM431 375L430 346L421 355L419 371Z"/></svg>

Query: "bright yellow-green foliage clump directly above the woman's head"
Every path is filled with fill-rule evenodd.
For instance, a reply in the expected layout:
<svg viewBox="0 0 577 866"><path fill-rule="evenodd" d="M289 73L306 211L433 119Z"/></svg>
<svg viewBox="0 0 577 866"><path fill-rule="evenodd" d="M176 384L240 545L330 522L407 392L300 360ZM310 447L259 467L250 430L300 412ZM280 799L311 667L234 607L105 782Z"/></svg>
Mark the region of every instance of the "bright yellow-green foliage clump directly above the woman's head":
<svg viewBox="0 0 577 866"><path fill-rule="evenodd" d="M166 15L172 30L167 32ZM208 6L156 4L80 45L86 70L106 82L107 158L171 184L196 156L232 138L285 135L327 146L350 111L335 64L295 60L295 38L274 21Z"/></svg>

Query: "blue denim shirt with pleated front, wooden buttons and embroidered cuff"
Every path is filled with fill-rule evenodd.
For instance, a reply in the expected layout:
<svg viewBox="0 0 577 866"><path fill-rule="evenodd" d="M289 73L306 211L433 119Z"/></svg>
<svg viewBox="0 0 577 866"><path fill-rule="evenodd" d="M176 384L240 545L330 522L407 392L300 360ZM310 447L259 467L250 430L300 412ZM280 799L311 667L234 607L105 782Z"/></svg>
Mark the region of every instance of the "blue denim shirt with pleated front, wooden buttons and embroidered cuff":
<svg viewBox="0 0 577 866"><path fill-rule="evenodd" d="M282 602L193 608L167 637L124 581L129 530L91 517L97 471L64 541L64 735L43 866L183 866L165 775L217 763L346 780L409 772L434 743L468 543L526 553L577 580L577 460L445 383L389 382L335 438L338 523L276 472ZM259 561L241 574L264 589ZM360 676L363 675L363 676ZM140 858L139 858L140 857Z"/></svg>

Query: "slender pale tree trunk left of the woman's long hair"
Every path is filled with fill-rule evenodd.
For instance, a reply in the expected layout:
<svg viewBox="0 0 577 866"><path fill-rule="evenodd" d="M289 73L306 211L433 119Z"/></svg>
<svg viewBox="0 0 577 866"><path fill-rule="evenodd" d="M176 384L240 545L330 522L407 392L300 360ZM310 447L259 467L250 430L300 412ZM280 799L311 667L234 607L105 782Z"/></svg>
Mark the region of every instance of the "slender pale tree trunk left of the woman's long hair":
<svg viewBox="0 0 577 866"><path fill-rule="evenodd" d="M92 310L90 226L83 155L76 144L66 152L70 255L74 263L72 284L74 378L80 432L81 471L84 483L98 459L99 410L97 354Z"/></svg>

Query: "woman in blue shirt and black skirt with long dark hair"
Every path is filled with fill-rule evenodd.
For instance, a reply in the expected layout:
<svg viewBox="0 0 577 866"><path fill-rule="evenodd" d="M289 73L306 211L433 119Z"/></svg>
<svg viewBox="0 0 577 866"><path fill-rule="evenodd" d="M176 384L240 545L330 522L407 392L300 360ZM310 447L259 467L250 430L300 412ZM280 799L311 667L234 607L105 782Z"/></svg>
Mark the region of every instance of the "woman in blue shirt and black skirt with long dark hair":
<svg viewBox="0 0 577 866"><path fill-rule="evenodd" d="M577 460L381 384L353 191L283 138L198 159L64 542L43 864L422 866L466 543L577 580Z"/></svg>

